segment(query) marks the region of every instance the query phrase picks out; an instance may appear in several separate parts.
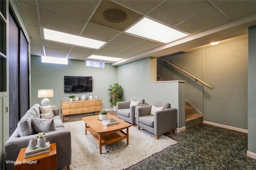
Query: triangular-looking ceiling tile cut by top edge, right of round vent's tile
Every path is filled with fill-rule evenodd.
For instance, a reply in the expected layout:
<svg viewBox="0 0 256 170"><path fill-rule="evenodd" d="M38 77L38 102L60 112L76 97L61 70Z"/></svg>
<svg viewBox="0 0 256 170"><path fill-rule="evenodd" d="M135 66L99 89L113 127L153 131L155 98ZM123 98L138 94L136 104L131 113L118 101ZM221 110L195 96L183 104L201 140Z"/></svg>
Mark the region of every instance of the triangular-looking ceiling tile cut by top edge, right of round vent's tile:
<svg viewBox="0 0 256 170"><path fill-rule="evenodd" d="M161 4L163 0L117 0L116 2L142 14L147 14Z"/></svg>

